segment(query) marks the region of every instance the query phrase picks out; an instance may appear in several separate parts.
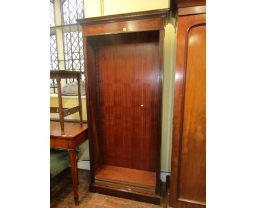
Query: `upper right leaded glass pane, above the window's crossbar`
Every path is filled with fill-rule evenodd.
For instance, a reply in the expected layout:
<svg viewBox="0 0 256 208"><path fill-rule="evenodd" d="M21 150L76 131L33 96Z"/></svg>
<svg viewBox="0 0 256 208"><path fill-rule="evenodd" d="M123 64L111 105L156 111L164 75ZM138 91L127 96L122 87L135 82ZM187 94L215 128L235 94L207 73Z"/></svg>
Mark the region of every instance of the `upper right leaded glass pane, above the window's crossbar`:
<svg viewBox="0 0 256 208"><path fill-rule="evenodd" d="M75 20L84 17L83 0L66 0L62 3L62 24L69 25L77 23Z"/></svg>

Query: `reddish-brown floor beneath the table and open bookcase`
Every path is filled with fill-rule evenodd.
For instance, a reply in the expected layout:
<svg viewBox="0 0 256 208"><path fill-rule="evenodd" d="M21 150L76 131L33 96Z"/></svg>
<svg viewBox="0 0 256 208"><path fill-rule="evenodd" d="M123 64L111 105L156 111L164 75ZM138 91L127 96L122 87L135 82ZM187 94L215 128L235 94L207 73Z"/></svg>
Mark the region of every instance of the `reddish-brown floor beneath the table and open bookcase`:
<svg viewBox="0 0 256 208"><path fill-rule="evenodd" d="M64 170L60 175L61 178L71 178L71 170L70 168ZM109 195L103 195L98 193L91 193L89 191L90 184L90 171L78 169L78 178L79 178L79 206L74 205L73 198L73 188L72 183L69 182L67 187L63 189L56 197L51 200L50 207L51 208L69 208L69 207L92 207L92 208L113 208L113 207L142 207L142 208L159 208L166 207L165 200L165 183L162 183L162 199L161 206L153 205L148 203L143 203L139 201L133 201L129 199L123 199L118 197L111 197ZM54 178L51 181L51 193L59 189L64 183L66 183L67 179Z"/></svg>

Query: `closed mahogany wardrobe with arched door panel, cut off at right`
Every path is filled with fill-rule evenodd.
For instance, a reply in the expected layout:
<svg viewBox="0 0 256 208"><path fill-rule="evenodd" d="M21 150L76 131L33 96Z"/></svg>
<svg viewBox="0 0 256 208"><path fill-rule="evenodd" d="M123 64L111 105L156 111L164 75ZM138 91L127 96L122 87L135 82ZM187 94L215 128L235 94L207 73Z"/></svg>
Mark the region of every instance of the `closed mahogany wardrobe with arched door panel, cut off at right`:
<svg viewBox="0 0 256 208"><path fill-rule="evenodd" d="M168 205L206 207L206 1L177 0Z"/></svg>

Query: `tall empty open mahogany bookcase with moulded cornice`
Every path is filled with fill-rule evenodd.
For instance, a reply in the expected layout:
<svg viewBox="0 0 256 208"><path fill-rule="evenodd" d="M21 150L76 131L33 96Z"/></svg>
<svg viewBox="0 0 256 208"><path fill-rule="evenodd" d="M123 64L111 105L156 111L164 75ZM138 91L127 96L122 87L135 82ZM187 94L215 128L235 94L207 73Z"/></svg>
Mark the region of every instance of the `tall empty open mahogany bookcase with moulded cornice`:
<svg viewBox="0 0 256 208"><path fill-rule="evenodd" d="M163 41L169 9L83 26L90 191L160 204Z"/></svg>

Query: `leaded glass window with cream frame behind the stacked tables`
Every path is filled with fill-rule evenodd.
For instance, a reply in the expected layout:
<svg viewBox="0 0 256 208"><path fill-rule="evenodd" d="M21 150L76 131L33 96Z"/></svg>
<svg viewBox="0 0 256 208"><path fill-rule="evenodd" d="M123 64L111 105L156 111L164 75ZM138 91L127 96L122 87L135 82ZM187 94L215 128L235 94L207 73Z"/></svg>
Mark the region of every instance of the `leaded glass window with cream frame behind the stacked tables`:
<svg viewBox="0 0 256 208"><path fill-rule="evenodd" d="M82 27L75 21L82 18L83 0L50 0L50 70L84 71ZM74 81L66 79L66 83ZM55 93L56 85L50 79L50 93Z"/></svg>

